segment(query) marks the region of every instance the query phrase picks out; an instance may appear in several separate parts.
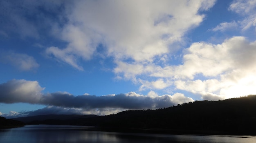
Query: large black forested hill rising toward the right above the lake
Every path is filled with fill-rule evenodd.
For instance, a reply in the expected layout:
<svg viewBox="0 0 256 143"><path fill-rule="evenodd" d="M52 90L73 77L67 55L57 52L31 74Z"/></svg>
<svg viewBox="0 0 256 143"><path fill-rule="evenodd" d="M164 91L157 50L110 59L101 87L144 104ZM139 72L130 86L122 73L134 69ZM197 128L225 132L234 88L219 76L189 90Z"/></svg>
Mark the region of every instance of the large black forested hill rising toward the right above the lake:
<svg viewBox="0 0 256 143"><path fill-rule="evenodd" d="M157 110L86 116L57 123L97 125L108 131L256 135L256 95L223 101L194 101Z"/></svg>

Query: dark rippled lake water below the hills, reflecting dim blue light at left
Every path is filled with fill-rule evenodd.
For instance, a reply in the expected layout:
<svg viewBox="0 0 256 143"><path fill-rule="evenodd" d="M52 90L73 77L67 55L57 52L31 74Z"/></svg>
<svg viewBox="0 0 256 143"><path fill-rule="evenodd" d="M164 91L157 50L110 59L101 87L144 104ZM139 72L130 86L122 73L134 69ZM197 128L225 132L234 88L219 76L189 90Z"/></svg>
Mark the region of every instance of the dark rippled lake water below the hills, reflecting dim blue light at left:
<svg viewBox="0 0 256 143"><path fill-rule="evenodd" d="M72 125L0 129L0 143L256 143L256 136L199 136L90 131Z"/></svg>

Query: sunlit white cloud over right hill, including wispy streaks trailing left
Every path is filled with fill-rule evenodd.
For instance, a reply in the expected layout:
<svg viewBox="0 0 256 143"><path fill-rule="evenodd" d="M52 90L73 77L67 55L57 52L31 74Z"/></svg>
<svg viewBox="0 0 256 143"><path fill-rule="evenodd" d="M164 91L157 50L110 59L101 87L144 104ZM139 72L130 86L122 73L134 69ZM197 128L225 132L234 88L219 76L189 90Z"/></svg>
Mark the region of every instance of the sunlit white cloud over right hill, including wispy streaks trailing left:
<svg viewBox="0 0 256 143"><path fill-rule="evenodd" d="M193 43L183 50L179 65L121 63L126 68L115 68L115 72L140 83L140 90L170 88L207 100L227 99L256 94L255 54L256 41L238 36L220 44Z"/></svg>

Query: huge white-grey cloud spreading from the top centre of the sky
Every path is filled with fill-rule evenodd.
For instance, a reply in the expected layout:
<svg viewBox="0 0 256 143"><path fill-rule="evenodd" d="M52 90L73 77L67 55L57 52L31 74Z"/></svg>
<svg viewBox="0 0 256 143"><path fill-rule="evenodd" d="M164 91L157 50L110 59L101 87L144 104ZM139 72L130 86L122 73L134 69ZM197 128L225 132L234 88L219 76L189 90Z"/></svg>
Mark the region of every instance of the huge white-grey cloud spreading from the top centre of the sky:
<svg viewBox="0 0 256 143"><path fill-rule="evenodd" d="M208 10L214 2L76 1L66 10L69 22L59 33L67 46L49 47L47 53L79 70L77 59L91 59L99 44L116 61L153 62L175 50L170 45L198 26L204 18L198 11Z"/></svg>

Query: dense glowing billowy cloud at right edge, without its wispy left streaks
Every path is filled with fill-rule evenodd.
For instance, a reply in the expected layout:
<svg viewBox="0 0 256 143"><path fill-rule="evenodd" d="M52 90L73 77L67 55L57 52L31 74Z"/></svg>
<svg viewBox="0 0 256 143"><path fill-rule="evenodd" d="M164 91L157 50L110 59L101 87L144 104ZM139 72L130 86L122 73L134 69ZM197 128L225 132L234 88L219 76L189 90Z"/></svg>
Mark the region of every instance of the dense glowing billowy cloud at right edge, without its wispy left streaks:
<svg viewBox="0 0 256 143"><path fill-rule="evenodd" d="M189 72L183 74L187 78L175 81L177 89L212 100L256 93L253 88L256 86L256 42L248 42L245 37L232 37L218 45L194 43L186 52L184 64L176 72ZM199 74L206 79L194 79Z"/></svg>

